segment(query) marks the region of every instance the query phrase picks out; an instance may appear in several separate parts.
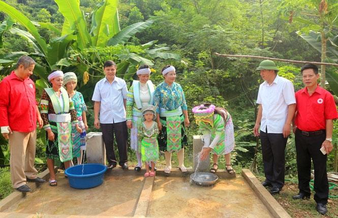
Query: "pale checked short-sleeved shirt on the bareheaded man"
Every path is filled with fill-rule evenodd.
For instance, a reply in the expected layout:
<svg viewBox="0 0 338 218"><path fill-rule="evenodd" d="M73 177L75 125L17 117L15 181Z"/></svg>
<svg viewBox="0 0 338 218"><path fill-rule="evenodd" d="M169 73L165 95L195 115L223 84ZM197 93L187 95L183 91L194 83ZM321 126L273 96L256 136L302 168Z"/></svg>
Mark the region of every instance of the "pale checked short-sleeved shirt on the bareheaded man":
<svg viewBox="0 0 338 218"><path fill-rule="evenodd" d="M100 123L119 123L126 121L124 99L127 99L126 81L114 77L110 84L106 77L95 86L93 101L100 101Z"/></svg>

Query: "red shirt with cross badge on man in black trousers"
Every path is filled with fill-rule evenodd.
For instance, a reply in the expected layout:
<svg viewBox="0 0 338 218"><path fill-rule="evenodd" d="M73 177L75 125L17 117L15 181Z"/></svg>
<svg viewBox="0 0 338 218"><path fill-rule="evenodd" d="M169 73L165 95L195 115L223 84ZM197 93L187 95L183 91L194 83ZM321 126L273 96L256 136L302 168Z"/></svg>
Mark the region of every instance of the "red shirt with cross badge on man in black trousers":
<svg viewBox="0 0 338 218"><path fill-rule="evenodd" d="M303 131L317 131L325 129L325 120L338 118L333 96L327 90L317 85L317 89L310 96L308 88L296 92L295 124Z"/></svg>

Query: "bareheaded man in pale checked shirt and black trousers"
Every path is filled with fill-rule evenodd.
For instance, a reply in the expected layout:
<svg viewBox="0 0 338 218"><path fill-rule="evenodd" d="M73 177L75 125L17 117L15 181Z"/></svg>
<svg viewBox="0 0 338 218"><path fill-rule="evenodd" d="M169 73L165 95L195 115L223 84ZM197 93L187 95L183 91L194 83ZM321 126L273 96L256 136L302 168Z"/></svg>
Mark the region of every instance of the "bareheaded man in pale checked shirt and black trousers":
<svg viewBox="0 0 338 218"><path fill-rule="evenodd" d="M95 86L94 103L94 126L102 129L103 141L106 147L108 169L117 165L113 149L114 134L119 154L119 165L122 169L128 169L127 163L127 124L126 124L126 81L115 76L116 64L106 61L103 66L105 78L98 81ZM100 113L100 119L99 119Z"/></svg>

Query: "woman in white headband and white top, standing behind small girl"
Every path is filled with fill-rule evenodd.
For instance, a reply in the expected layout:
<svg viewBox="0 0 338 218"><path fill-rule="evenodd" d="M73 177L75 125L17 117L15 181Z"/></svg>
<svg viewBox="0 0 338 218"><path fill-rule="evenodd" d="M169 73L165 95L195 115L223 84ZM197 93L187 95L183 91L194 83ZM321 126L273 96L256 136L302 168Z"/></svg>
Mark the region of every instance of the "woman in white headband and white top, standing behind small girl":
<svg viewBox="0 0 338 218"><path fill-rule="evenodd" d="M153 105L153 93L155 86L149 80L150 69L148 65L142 65L138 68L136 74L138 80L133 81L127 94L127 127L130 131L130 147L135 150L137 157L137 166L135 171L140 171L142 168L142 160L140 153L140 144L137 139L137 126L142 123L142 108L145 105Z"/></svg>

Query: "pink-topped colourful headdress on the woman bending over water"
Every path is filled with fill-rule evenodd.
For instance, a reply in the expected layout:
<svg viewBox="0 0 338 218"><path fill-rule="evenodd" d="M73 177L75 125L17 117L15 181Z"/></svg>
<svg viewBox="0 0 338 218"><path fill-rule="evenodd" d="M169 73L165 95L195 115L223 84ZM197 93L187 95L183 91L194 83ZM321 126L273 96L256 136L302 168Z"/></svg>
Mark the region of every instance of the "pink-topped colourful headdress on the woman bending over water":
<svg viewBox="0 0 338 218"><path fill-rule="evenodd" d="M197 125L200 125L201 122L209 123L213 126L213 113L215 110L215 105L213 104L201 104L193 108L193 113L195 117L195 122Z"/></svg>

